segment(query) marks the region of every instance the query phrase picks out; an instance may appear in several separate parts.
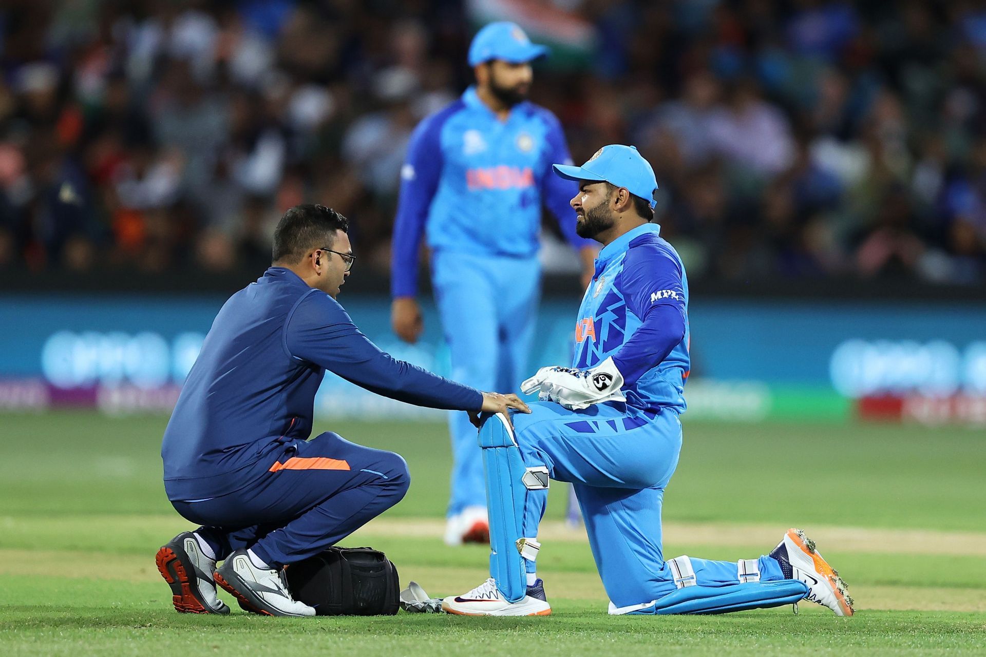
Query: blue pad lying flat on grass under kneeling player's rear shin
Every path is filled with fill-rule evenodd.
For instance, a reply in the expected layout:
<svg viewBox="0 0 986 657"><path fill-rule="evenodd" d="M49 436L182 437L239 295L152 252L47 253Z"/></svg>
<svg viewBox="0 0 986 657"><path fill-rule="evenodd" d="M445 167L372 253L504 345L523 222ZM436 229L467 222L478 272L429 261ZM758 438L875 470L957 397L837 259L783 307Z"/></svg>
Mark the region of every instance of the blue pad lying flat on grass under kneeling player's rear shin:
<svg viewBox="0 0 986 657"><path fill-rule="evenodd" d="M729 586L687 586L648 605L620 609L610 603L609 613L612 615L728 614L748 609L793 605L806 595L808 595L808 584L796 579Z"/></svg>

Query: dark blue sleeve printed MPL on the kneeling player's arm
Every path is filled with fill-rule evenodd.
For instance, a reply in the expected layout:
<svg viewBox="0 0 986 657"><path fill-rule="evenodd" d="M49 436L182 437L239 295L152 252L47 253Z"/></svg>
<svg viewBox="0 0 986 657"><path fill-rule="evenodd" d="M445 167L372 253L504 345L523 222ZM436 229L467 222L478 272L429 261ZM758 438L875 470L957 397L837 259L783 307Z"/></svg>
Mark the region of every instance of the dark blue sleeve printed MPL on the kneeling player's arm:
<svg viewBox="0 0 986 657"><path fill-rule="evenodd" d="M667 252L651 245L627 251L620 274L620 291L640 327L613 356L632 386L647 370L668 358L685 333L685 298L681 269Z"/></svg>

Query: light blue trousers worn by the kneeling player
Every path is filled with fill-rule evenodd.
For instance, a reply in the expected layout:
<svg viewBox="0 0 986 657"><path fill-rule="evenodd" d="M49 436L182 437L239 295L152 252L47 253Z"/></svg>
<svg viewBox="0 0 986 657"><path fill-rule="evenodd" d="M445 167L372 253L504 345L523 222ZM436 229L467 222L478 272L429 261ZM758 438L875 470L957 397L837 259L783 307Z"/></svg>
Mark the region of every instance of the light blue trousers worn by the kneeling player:
<svg viewBox="0 0 986 657"><path fill-rule="evenodd" d="M681 450L677 413L640 411L619 402L570 411L551 402L512 413L525 465L543 465L579 498L599 577L617 608L647 603L676 587L662 545L661 507ZM528 491L522 536L537 536L547 491ZM739 582L736 561L691 558L696 583ZM534 562L526 561L528 572ZM760 581L783 579L774 558L760 557Z"/></svg>

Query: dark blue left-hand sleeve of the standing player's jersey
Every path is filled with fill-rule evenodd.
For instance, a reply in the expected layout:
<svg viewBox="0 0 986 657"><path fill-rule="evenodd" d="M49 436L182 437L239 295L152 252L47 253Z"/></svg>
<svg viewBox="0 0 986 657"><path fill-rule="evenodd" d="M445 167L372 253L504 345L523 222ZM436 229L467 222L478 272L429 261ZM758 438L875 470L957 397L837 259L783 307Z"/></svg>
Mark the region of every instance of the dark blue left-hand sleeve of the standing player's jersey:
<svg viewBox="0 0 986 657"><path fill-rule="evenodd" d="M418 292L421 235L442 173L441 132L449 109L418 124L411 135L407 158L400 169L400 195L391 246L392 296L415 296Z"/></svg>

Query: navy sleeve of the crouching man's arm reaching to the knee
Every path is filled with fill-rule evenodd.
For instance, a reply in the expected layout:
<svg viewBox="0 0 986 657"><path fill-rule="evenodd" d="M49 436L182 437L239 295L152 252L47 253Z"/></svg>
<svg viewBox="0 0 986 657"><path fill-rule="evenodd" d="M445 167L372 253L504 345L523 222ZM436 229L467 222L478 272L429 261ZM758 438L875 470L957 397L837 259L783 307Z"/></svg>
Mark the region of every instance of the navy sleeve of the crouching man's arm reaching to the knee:
<svg viewBox="0 0 986 657"><path fill-rule="evenodd" d="M475 388L382 352L335 299L318 292L304 296L288 316L284 348L294 359L401 402L452 411L482 407L482 393Z"/></svg>

